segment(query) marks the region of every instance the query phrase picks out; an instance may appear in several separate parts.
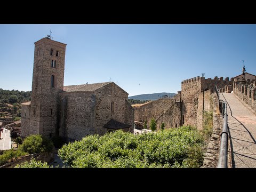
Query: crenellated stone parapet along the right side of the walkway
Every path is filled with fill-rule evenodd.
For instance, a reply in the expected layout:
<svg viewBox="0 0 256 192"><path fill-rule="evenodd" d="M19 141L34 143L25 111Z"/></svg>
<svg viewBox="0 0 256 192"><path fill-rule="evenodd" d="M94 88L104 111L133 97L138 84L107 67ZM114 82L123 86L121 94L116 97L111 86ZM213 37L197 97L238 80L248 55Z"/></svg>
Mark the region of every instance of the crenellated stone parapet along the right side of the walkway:
<svg viewBox="0 0 256 192"><path fill-rule="evenodd" d="M256 81L247 84L244 82L234 82L233 92L239 99L256 111Z"/></svg>

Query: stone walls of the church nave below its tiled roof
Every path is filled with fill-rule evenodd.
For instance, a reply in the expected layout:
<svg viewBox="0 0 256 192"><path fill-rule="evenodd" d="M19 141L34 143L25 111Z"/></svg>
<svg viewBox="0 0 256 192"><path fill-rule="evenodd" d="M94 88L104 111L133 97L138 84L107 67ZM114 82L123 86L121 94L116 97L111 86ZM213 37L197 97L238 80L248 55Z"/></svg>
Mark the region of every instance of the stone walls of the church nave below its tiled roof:
<svg viewBox="0 0 256 192"><path fill-rule="evenodd" d="M103 126L111 118L131 125L124 131L133 133L134 110L127 99L128 94L114 83L95 91L61 93L60 135L71 140L81 140L87 134L103 135L107 132Z"/></svg>

